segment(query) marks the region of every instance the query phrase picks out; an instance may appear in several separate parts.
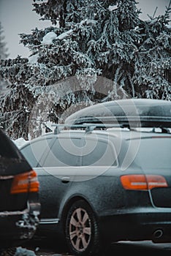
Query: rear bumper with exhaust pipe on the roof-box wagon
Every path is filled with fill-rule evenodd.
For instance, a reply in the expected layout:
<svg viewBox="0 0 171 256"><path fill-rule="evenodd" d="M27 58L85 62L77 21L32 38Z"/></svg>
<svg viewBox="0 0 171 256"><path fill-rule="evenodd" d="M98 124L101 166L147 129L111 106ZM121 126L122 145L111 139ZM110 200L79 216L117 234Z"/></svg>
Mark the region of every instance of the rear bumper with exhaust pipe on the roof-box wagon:
<svg viewBox="0 0 171 256"><path fill-rule="evenodd" d="M106 215L100 217L99 228L102 237L110 241L171 242L171 209Z"/></svg>

